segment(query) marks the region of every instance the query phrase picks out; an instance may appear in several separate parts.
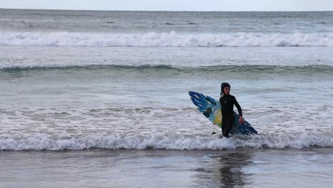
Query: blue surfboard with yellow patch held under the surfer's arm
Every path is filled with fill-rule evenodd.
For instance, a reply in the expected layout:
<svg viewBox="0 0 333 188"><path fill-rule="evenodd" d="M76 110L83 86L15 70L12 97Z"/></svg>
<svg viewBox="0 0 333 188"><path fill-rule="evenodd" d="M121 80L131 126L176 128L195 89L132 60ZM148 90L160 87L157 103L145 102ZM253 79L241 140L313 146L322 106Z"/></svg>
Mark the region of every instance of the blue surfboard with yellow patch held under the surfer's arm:
<svg viewBox="0 0 333 188"><path fill-rule="evenodd" d="M222 113L221 113L221 103L219 100L215 100L207 95L201 93L196 93L194 91L189 91L192 102L196 105L196 108L211 120L213 124L221 128L222 125ZM239 124L239 115L236 112L233 112L233 117L235 122L233 122L233 129L231 134L240 134L240 135L250 135L257 134L258 132L250 125L249 122L244 120L243 124Z"/></svg>

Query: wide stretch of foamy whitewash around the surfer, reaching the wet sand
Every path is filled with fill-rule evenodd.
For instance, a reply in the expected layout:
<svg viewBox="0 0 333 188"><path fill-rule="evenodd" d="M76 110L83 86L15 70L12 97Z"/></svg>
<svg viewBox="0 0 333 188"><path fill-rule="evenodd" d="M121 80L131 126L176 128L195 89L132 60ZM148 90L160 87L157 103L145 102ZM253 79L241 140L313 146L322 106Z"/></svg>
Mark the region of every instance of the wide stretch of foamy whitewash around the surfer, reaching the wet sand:
<svg viewBox="0 0 333 188"><path fill-rule="evenodd" d="M169 105L168 105L169 106ZM184 106L184 104L183 104ZM307 108L307 110L305 110ZM233 150L333 147L330 106L245 110L258 135L219 138L195 108L1 110L0 150ZM322 112L326 113L322 113ZM309 113L312 113L309 117ZM283 118L283 120L282 120ZM315 125L315 126L312 126ZM218 135L211 136L212 128Z"/></svg>

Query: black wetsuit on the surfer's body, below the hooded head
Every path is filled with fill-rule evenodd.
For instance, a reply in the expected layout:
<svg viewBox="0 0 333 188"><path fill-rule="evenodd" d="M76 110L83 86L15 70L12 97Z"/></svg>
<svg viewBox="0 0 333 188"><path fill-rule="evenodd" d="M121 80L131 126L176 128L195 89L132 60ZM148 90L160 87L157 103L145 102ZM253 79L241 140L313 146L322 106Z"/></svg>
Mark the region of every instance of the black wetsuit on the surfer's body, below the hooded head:
<svg viewBox="0 0 333 188"><path fill-rule="evenodd" d="M233 105L236 105L238 114L242 115L242 108L238 104L233 95L223 95L220 98L221 111L222 111L222 132L224 137L229 137L229 133L233 127Z"/></svg>

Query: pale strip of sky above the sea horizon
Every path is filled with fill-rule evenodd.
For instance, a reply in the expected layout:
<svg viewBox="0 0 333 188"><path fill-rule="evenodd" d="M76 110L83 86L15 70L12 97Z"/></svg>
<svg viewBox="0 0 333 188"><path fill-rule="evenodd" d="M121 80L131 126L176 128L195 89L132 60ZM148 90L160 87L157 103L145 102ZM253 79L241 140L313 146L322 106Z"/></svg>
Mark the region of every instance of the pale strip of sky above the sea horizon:
<svg viewBox="0 0 333 188"><path fill-rule="evenodd" d="M2 9L333 11L333 0L0 0Z"/></svg>

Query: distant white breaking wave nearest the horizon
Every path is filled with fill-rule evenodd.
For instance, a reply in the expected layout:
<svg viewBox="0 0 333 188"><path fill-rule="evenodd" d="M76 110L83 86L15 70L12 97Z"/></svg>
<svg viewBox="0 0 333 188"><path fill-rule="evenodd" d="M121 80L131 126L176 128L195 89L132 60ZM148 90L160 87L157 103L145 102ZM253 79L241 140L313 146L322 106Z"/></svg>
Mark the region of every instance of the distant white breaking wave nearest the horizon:
<svg viewBox="0 0 333 188"><path fill-rule="evenodd" d="M332 33L0 32L0 46L333 46Z"/></svg>

